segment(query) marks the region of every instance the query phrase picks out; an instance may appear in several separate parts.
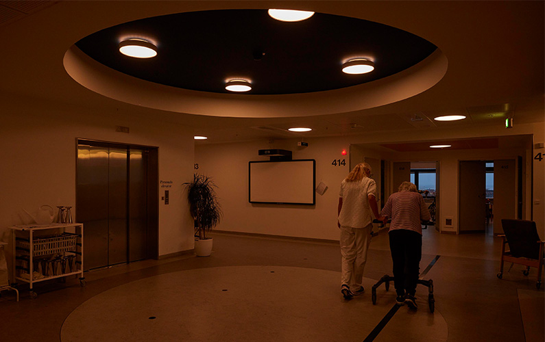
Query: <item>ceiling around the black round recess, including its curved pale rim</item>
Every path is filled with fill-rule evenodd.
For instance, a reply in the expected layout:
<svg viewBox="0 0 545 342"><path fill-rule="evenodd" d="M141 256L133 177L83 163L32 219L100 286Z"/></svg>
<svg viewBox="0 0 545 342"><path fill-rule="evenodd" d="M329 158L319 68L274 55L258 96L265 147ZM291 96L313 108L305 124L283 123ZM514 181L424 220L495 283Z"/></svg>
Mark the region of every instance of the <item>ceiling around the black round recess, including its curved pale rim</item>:
<svg viewBox="0 0 545 342"><path fill-rule="evenodd" d="M134 77L127 74L134 70L113 70L93 58L86 60L85 54L76 49L85 37L144 18L153 21L154 17L171 14L189 16L207 11L217 14L221 10L263 13L267 8L288 5L293 9L313 10L326 18L339 16L354 23L395 27L437 49L428 57L421 57L424 58L421 62L410 62L408 68L399 66L404 70L390 71L393 75L385 74L374 80L362 78L355 83L339 83L337 79L336 85L327 83L330 90L324 90L315 80L291 77L300 82L298 90L263 88L254 94L227 94L209 85L190 88L169 83L177 79L178 72L162 73L174 81L149 81L149 75L156 76L149 70L148 76ZM349 135L372 135L376 141L385 143L396 142L401 136L407 139L409 135L411 141L439 141L447 136L465 139L480 132L483 137L491 135L490 131L503 127L508 116L514 118L515 128L505 130L505 135L521 134L518 124L544 122L544 11L543 1L0 1L0 37L4 51L10 51L0 55L3 66L0 96L3 101L21 98L36 105L62 103L82 112L119 116L123 120L152 117L183 124L193 127L197 135L208 136L206 142L197 144ZM208 21L206 24L213 27ZM223 31L226 35L222 39L231 39L228 47L233 47L234 38L230 38L228 27L215 27L212 36L223 35ZM278 42L267 50L268 43L261 40L267 31L260 31L253 44L237 48L248 63L258 65L256 75L262 73L263 79L277 76L266 67L272 62L271 54L288 54L288 49L282 51ZM178 33L192 37L195 44L202 37L199 29ZM294 58L289 61L291 68L299 64L327 69L329 66L321 64L325 60L322 55L328 56L328 64L340 63L339 55L333 57L335 49L330 47L339 44L335 47L348 49L357 38L366 36L360 32L353 34L348 42L341 39L338 31L310 34L308 40L299 44L301 51L321 52L310 59ZM296 37L284 36L291 39L292 46L298 45ZM322 41L326 43L320 44ZM213 53L236 52L220 49L217 41L204 45L194 45L195 53L188 52L189 57L194 57L193 65L201 66L198 60L203 56L216 60ZM250 60L249 54L256 47L265 52L261 61L254 61L253 54ZM269 51L277 52L269 54ZM402 60L400 57L405 53L390 50L384 57ZM81 74L88 78L87 82L74 81L77 75L66 62L70 55L79 58L71 60L73 65L88 67L88 73ZM233 57L226 60L232 61ZM226 68L222 63L223 60L217 62L213 69ZM338 68L328 71L332 70L338 72ZM376 69L379 70L384 71ZM206 77L208 81L210 78ZM318 88L306 88L305 84ZM109 86L109 92L101 88L104 85ZM218 82L216 86L219 87ZM446 114L463 114L468 118L459 122L433 120ZM313 131L287 132L294 126L312 127Z"/></svg>

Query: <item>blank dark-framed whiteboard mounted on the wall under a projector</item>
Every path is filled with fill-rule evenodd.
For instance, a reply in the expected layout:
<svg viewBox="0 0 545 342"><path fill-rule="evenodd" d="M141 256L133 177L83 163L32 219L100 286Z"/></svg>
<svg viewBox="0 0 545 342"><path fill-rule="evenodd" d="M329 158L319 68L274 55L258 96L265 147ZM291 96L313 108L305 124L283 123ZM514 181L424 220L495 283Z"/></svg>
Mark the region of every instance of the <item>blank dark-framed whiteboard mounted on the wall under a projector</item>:
<svg viewBox="0 0 545 342"><path fill-rule="evenodd" d="M315 204L314 159L250 161L250 203Z"/></svg>

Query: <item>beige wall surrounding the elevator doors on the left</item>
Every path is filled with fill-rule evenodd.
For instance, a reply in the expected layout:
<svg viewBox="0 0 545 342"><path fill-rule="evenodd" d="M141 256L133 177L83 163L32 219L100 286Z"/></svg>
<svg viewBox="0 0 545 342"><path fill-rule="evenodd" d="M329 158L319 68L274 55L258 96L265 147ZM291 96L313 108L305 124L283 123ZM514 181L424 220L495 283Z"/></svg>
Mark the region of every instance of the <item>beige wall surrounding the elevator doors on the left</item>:
<svg viewBox="0 0 545 342"><path fill-rule="evenodd" d="M0 238L27 222L23 209L75 205L76 138L157 146L159 179L173 181L170 204L159 201L159 254L193 249L193 224L181 184L193 176L193 131L178 124L85 109L0 101ZM117 133L118 125L130 133ZM160 191L161 192L161 191ZM161 192L162 193L162 192ZM75 215L75 211L73 211ZM77 218L75 218L77 220Z"/></svg>

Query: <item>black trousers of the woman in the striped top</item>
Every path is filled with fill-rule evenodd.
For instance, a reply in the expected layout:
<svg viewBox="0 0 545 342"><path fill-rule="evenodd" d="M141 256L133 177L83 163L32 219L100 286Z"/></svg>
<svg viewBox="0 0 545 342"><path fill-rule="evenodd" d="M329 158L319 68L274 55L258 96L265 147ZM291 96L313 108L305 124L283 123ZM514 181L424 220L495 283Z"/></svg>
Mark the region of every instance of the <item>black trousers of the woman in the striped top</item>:
<svg viewBox="0 0 545 342"><path fill-rule="evenodd" d="M408 229L396 229L388 235L396 293L403 295L407 291L415 295L422 259L422 235Z"/></svg>

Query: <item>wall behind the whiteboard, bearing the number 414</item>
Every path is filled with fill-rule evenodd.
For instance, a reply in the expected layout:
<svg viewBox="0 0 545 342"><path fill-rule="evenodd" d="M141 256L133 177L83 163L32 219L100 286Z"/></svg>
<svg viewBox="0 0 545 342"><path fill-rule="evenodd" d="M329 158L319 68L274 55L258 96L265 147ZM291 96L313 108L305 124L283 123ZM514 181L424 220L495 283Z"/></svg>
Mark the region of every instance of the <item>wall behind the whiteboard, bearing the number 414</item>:
<svg viewBox="0 0 545 342"><path fill-rule="evenodd" d="M349 150L343 138L305 139L308 147L298 147L297 140L278 140L239 144L197 144L195 163L198 172L212 176L223 207L222 231L262 233L290 237L339 239L337 202L341 181L350 171ZM293 151L293 159L316 160L316 185L324 182L328 189L316 194L316 205L256 205L248 202L248 161L269 160L258 150L282 148ZM345 166L333 166L334 159L345 159Z"/></svg>

